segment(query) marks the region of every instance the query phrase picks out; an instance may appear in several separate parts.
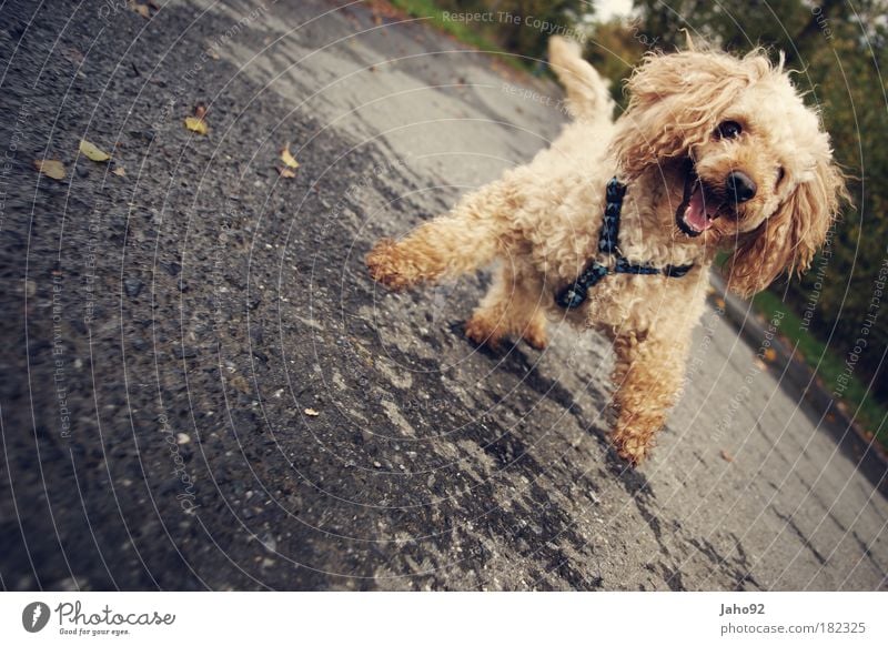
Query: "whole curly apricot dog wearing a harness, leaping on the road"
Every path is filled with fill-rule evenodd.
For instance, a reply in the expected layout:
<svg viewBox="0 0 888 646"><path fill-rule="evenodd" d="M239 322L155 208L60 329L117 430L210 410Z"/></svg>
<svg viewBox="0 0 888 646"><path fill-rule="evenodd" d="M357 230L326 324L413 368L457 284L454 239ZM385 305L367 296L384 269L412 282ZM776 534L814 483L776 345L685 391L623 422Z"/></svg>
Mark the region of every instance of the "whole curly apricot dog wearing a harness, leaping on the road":
<svg viewBox="0 0 888 646"><path fill-rule="evenodd" d="M842 173L817 113L760 52L650 54L626 112L579 47L549 61L573 122L524 166L367 255L390 289L450 279L500 259L466 323L476 343L546 344L546 319L604 331L616 352L613 442L638 464L680 391L718 251L749 295L804 271L840 202Z"/></svg>

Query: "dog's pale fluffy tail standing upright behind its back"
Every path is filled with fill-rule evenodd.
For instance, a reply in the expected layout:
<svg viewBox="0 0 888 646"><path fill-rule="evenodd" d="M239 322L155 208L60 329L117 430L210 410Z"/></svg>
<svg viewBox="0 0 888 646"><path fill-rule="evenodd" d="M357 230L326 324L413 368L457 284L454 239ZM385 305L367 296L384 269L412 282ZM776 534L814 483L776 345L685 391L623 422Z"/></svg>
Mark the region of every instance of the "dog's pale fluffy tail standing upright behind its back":
<svg viewBox="0 0 888 646"><path fill-rule="evenodd" d="M607 82L586 60L579 43L559 36L548 40L548 63L567 90L567 109L578 121L609 119L614 101Z"/></svg>

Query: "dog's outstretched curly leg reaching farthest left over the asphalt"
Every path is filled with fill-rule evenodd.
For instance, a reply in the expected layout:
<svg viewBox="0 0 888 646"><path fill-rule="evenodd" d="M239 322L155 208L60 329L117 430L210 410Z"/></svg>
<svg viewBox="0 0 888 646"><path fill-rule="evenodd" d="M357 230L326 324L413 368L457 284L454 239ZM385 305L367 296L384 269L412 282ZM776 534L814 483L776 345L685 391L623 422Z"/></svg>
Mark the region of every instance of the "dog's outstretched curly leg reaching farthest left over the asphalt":
<svg viewBox="0 0 888 646"><path fill-rule="evenodd" d="M406 238L381 240L366 256L370 275L386 287L401 290L490 263L508 244L509 214L517 208L511 186L506 179L486 184Z"/></svg>

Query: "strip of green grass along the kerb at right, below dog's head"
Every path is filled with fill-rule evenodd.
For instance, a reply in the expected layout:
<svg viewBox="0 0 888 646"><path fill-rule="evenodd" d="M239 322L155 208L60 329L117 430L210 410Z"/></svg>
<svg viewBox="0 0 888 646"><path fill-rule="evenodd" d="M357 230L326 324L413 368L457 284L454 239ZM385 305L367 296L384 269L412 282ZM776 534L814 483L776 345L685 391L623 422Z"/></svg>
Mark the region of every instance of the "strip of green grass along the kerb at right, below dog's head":
<svg viewBox="0 0 888 646"><path fill-rule="evenodd" d="M829 392L836 392L839 384L838 378L845 372L846 357L837 355L807 331L801 319L776 294L767 291L759 292L753 297L753 306L767 321L774 319L777 312L785 314L780 322L780 334L789 341L790 349L795 346L805 363L817 373L824 387ZM888 428L885 425L888 407L867 394L866 385L855 374L851 374L841 401L848 407L848 414L854 415L858 424L874 433L884 447L888 447Z"/></svg>

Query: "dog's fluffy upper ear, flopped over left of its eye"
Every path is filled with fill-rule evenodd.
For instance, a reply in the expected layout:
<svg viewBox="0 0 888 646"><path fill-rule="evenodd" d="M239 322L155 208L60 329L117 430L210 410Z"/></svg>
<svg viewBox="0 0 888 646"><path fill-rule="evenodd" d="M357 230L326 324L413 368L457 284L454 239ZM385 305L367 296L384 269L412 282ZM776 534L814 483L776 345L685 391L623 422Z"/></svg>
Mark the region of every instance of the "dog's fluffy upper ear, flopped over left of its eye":
<svg viewBox="0 0 888 646"><path fill-rule="evenodd" d="M740 61L705 50L649 54L627 83L629 105L617 123L620 175L630 180L658 161L688 154L712 137L739 93L769 71L758 52Z"/></svg>

